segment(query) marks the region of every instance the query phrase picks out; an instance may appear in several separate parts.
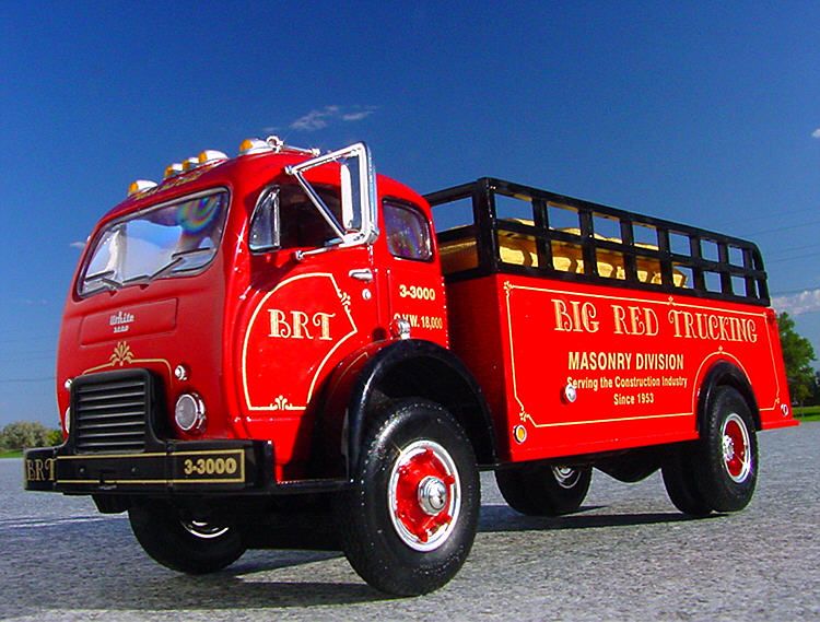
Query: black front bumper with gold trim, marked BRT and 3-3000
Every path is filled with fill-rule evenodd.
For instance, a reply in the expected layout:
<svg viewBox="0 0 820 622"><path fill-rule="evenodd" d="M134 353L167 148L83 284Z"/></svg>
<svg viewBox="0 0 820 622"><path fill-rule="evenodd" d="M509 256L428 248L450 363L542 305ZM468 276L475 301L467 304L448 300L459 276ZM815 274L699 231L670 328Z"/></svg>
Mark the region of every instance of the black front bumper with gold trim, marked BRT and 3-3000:
<svg viewBox="0 0 820 622"><path fill-rule="evenodd" d="M24 488L67 494L265 494L273 447L263 441L162 443L143 453L84 454L68 445L28 449Z"/></svg>

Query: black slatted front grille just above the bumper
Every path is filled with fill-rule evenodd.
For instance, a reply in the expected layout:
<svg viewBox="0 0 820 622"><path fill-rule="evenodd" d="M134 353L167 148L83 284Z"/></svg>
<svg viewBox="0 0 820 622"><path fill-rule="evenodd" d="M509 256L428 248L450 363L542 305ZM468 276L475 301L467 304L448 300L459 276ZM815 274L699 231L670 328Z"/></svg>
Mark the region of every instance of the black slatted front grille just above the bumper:
<svg viewBox="0 0 820 622"><path fill-rule="evenodd" d="M142 372L80 377L72 387L78 451L143 451L149 376Z"/></svg>

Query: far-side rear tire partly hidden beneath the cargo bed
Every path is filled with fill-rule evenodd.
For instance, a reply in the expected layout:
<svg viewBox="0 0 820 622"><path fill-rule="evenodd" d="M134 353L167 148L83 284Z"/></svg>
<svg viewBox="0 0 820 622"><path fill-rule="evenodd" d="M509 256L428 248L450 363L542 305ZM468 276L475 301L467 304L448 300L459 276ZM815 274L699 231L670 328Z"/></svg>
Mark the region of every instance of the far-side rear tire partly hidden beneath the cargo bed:
<svg viewBox="0 0 820 622"><path fill-rule="evenodd" d="M560 516L576 512L593 480L591 467L524 465L495 471L504 501L529 516Z"/></svg>

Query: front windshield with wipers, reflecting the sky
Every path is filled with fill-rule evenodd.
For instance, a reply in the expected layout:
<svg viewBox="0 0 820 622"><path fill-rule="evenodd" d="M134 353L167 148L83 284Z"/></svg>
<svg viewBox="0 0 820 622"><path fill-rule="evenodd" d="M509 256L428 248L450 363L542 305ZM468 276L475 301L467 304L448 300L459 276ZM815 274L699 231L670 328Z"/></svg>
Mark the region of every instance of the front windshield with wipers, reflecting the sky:
<svg viewBox="0 0 820 622"><path fill-rule="evenodd" d="M227 203L221 190L112 223L96 237L80 294L204 268L222 238Z"/></svg>

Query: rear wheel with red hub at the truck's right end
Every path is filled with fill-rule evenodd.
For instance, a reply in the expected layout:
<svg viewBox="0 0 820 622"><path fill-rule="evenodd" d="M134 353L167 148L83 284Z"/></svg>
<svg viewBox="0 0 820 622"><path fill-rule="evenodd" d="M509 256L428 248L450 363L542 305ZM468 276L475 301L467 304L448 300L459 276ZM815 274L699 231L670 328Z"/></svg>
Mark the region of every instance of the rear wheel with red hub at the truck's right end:
<svg viewBox="0 0 820 622"><path fill-rule="evenodd" d="M758 481L758 438L749 404L737 389L715 389L692 470L712 509L738 512L751 501Z"/></svg>

